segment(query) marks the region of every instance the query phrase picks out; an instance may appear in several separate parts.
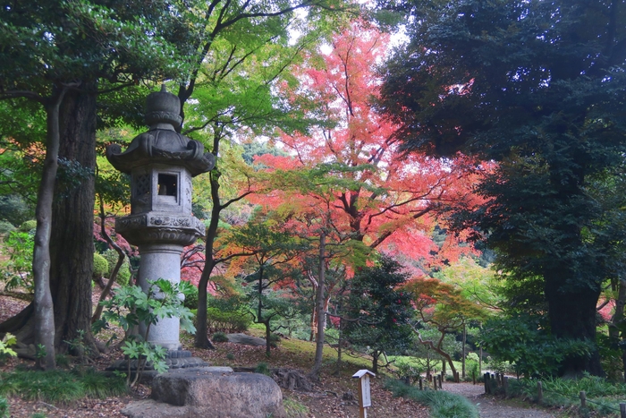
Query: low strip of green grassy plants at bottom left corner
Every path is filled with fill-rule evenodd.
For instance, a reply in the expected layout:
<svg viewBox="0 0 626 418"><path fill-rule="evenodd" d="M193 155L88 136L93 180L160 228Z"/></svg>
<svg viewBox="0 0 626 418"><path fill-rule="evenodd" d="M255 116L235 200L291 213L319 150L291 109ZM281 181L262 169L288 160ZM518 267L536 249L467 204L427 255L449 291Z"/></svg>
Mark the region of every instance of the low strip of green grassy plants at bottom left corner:
<svg viewBox="0 0 626 418"><path fill-rule="evenodd" d="M13 371L0 375L0 395L67 404L83 397L115 397L126 393L120 378L93 369L73 371Z"/></svg>

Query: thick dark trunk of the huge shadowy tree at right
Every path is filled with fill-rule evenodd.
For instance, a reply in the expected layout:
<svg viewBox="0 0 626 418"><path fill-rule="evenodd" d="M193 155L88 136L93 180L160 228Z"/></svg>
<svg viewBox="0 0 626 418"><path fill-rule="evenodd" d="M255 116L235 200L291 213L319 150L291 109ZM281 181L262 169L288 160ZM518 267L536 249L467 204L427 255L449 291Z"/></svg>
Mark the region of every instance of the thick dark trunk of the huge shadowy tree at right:
<svg viewBox="0 0 626 418"><path fill-rule="evenodd" d="M546 300L550 327L554 337L574 338L596 344L596 304L600 286L572 286L566 280L546 277ZM563 363L563 376L580 376L583 371L603 376L600 355L595 350L589 357L573 357Z"/></svg>

